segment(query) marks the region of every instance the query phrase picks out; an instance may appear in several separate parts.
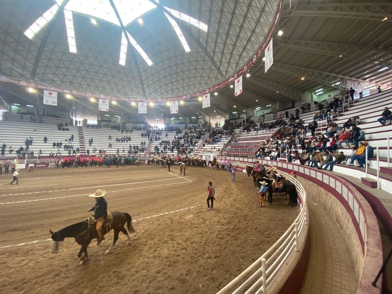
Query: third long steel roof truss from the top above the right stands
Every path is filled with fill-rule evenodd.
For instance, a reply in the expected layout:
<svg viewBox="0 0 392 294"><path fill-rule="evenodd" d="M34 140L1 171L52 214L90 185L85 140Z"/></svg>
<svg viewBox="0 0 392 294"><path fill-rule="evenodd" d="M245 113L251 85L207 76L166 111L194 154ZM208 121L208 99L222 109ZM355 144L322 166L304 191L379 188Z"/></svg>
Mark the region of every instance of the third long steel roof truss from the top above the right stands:
<svg viewBox="0 0 392 294"><path fill-rule="evenodd" d="M336 73L321 72L293 65L273 63L271 68L282 73L288 73L301 77L303 76L315 82L322 83L341 90L347 90L350 87L353 87L354 89L368 89L377 86L377 84L373 82L356 79L353 77L344 76Z"/></svg>

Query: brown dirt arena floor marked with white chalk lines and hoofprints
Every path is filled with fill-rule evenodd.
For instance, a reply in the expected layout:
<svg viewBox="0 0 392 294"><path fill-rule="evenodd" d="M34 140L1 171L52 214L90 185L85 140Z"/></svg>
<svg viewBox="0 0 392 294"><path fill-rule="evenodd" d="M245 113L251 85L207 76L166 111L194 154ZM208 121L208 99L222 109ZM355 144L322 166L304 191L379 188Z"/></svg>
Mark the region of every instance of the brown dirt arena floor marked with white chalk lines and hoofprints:
<svg viewBox="0 0 392 294"><path fill-rule="evenodd" d="M298 211L274 194L258 206L251 178L237 172L177 166L110 169L22 170L19 185L0 176L1 293L216 293L259 258L286 231ZM216 190L207 210L208 182ZM132 216L131 244L120 238L105 255L113 233L88 248L65 239L52 254L49 229L84 220L97 189L106 190L109 211Z"/></svg>

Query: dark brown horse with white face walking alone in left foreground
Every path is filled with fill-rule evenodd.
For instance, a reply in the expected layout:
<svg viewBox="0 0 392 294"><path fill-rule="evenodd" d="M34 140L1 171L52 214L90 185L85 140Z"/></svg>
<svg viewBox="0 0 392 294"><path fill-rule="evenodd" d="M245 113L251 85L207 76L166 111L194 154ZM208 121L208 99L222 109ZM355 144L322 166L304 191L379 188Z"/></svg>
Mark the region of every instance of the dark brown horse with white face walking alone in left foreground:
<svg viewBox="0 0 392 294"><path fill-rule="evenodd" d="M130 244L131 238L129 237L127 230L124 228L125 223L128 224L128 231L130 233L135 233L135 228L132 225L132 218L129 214L125 212L112 212L110 214L110 218L107 218L103 222L102 233L104 235L110 230L114 230L113 244L110 245L109 249L106 250L105 254L111 253L114 245L119 239L120 232L123 232L123 234L128 238L128 242L126 245ZM65 238L75 238L77 244L81 245L77 257L81 260L80 264L85 264L88 260L87 246L91 243L91 240L98 237L97 230L95 227L95 224L89 225L89 221L87 219L85 221L74 223L54 233L49 230L52 242L51 252L57 253L60 248L59 242L64 241ZM84 256L82 256L82 253L84 253Z"/></svg>

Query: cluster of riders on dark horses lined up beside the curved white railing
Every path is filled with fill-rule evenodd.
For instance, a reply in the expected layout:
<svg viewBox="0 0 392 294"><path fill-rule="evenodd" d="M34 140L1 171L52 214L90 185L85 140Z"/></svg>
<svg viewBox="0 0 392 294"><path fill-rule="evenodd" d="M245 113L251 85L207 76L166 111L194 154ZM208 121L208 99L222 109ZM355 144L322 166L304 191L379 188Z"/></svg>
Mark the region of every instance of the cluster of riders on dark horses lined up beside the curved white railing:
<svg viewBox="0 0 392 294"><path fill-rule="evenodd" d="M247 176L252 176L253 183L257 188L261 187L261 182L267 183L268 186L268 198L272 203L272 193L285 193L286 196L289 196L288 206L296 207L297 206L297 190L291 181L287 180L283 175L278 172L278 169L274 166L265 167L264 164L261 164L258 161L255 161L255 166L246 166L245 170Z"/></svg>

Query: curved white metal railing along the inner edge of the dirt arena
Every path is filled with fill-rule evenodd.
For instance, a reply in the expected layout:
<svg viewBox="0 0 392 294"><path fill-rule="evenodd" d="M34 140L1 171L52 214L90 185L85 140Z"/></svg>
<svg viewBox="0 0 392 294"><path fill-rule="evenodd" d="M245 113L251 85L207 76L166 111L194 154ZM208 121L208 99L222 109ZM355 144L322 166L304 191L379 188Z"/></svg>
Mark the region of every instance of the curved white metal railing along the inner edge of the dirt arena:
<svg viewBox="0 0 392 294"><path fill-rule="evenodd" d="M240 163L233 163L233 166L241 166ZM309 224L308 207L306 203L306 192L302 185L290 174L281 172L286 179L294 183L297 195L300 197L300 212L287 229L287 231L270 247L259 259L257 259L246 270L240 273L235 279L228 283L218 292L223 293L263 293L267 294L267 287L279 274L279 270L285 265L287 259L295 250L300 251L298 240L304 233L304 225ZM306 230L305 230L306 232ZM247 277L247 278L246 278ZM241 283L242 280L246 280ZM241 284L240 284L241 283ZM246 290L246 291L245 291ZM244 292L245 291L245 292Z"/></svg>

